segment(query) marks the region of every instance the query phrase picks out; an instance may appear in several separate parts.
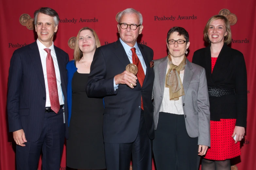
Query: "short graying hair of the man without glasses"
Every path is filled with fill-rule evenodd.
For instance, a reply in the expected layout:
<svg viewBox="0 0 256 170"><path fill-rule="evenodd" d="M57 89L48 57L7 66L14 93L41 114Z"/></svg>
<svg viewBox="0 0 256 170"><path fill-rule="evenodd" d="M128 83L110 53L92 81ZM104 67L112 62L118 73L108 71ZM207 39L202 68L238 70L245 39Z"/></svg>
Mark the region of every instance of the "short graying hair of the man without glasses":
<svg viewBox="0 0 256 170"><path fill-rule="evenodd" d="M39 14L39 12L53 17L55 26L59 25L60 18L59 18L58 13L54 9L49 8L49 7L41 7L34 12L35 25L37 23L37 15Z"/></svg>

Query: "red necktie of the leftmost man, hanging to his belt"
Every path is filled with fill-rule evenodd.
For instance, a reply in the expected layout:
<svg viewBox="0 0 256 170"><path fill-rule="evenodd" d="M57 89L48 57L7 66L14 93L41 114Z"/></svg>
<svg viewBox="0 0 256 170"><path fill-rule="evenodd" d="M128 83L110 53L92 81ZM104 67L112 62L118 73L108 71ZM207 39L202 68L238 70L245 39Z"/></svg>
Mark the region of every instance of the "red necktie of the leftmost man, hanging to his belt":
<svg viewBox="0 0 256 170"><path fill-rule="evenodd" d="M56 74L55 74L53 59L51 55L51 49L43 49L43 50L47 52L46 73L47 73L47 84L48 84L48 90L49 90L51 109L55 113L58 113L60 110L60 102L59 102Z"/></svg>

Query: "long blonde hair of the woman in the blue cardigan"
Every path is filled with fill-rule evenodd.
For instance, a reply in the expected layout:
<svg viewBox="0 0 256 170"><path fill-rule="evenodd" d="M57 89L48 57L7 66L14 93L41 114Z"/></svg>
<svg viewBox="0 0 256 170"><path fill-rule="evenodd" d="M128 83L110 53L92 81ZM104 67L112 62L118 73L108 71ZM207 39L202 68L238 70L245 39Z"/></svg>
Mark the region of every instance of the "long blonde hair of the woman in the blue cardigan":
<svg viewBox="0 0 256 170"><path fill-rule="evenodd" d="M78 31L77 39L76 39L76 43L75 43L74 60L75 60L76 62L77 62L77 61L80 61L81 58L83 57L83 52L79 49L79 46L78 46L79 35L80 35L80 32L83 31L83 30L90 30L90 31L93 33L93 36L94 36L94 39L95 39L95 42L96 42L96 48L100 47L99 37L98 37L98 35L96 34L96 32L95 32L92 28L83 27L82 29L80 29L80 30Z"/></svg>

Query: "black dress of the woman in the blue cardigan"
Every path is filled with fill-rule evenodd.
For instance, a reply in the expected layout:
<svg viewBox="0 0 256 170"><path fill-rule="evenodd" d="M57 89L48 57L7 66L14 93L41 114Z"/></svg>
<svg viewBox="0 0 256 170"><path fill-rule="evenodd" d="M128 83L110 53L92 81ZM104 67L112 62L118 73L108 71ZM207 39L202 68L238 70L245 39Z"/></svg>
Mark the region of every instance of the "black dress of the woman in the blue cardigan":
<svg viewBox="0 0 256 170"><path fill-rule="evenodd" d="M75 169L105 169L103 99L88 98L85 90L88 76L75 72L72 79L67 166Z"/></svg>

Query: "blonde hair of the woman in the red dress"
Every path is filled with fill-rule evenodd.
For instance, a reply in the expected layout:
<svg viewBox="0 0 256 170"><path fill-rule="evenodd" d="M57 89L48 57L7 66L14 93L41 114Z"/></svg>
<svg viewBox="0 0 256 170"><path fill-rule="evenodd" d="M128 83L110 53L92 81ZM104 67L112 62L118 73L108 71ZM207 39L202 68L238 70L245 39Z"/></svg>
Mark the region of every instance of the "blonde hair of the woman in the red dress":
<svg viewBox="0 0 256 170"><path fill-rule="evenodd" d="M210 25L213 21L221 19L225 22L225 28L226 31L228 32L228 35L226 35L224 37L224 43L230 44L232 38L231 38L231 29L230 29L230 24L229 24L229 20L222 15L214 15L213 17L211 17L208 22L206 23L205 27L204 27L204 40L208 43L211 43L209 37L208 37L208 30L210 28Z"/></svg>

